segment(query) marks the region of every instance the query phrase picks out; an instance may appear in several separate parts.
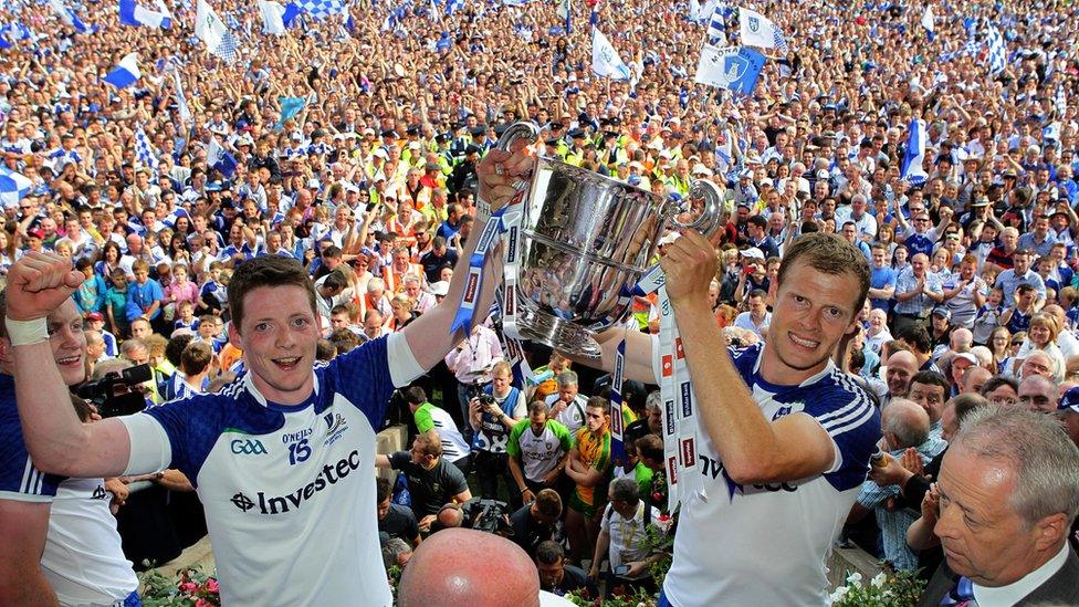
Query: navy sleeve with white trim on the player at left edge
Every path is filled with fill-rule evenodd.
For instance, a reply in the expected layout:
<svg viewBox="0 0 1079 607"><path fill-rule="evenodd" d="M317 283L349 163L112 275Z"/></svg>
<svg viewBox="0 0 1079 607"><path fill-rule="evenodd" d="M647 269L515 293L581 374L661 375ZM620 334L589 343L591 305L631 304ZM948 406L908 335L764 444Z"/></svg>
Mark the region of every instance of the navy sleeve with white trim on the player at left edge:
<svg viewBox="0 0 1079 607"><path fill-rule="evenodd" d="M30 461L15 408L15 378L0 374L0 500L49 503L62 480Z"/></svg>

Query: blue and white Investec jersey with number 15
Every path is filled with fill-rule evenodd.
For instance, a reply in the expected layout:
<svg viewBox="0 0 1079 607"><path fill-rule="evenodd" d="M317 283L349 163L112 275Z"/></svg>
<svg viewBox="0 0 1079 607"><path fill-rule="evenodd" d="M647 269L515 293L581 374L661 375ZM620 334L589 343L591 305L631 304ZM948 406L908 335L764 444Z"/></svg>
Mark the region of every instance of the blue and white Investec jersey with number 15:
<svg viewBox="0 0 1079 607"><path fill-rule="evenodd" d="M407 348L394 334L315 367L313 394L295 406L268 401L244 374L121 418L126 473L177 468L196 485L226 605L390 604L375 429L395 386L412 379L391 371Z"/></svg>

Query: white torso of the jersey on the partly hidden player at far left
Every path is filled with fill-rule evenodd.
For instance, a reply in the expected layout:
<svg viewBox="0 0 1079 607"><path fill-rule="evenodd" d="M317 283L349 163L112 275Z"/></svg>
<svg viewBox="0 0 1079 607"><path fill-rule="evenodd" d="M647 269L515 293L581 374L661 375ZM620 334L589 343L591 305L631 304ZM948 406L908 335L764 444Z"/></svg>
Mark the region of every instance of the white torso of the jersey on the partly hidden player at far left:
<svg viewBox="0 0 1079 607"><path fill-rule="evenodd" d="M108 511L112 499L102 479L67 479L56 490L41 571L61 605L112 605L138 588Z"/></svg>

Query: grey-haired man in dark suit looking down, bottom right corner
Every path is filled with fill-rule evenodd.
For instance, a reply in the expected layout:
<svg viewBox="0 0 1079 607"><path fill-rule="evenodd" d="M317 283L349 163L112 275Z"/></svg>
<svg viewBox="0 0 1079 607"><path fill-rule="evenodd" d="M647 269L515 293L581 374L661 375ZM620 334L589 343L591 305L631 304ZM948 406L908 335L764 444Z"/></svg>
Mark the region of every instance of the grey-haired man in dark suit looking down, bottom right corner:
<svg viewBox="0 0 1079 607"><path fill-rule="evenodd" d="M941 566L920 606L1079 605L1079 448L1052 417L980 408L952 441L936 483Z"/></svg>

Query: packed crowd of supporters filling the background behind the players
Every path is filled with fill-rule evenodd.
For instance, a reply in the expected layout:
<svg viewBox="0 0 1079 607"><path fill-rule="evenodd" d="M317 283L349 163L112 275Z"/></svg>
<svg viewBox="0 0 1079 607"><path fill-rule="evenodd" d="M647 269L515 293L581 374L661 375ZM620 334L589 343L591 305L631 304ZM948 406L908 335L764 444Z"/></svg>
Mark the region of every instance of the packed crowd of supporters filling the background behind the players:
<svg viewBox="0 0 1079 607"><path fill-rule="evenodd" d="M6 199L0 273L27 251L84 272L74 297L94 377L148 363L153 405L227 385L243 373L227 339L229 278L261 255L310 270L324 359L401 329L442 301L473 236L476 163L509 124L531 121L545 154L657 195L721 187L711 303L734 345L767 333L779 262L800 234L835 232L865 253L870 299L837 363L879 398L893 458L867 481L847 536L892 566L928 577L940 559L910 542L932 515L928 486L910 488L984 402L954 397L1060 416L1079 441L1079 408L1057 410L1079 386L1073 7L932 3L930 39L921 2L757 2L789 50L769 50L753 95L733 98L693 82L706 24L682 3L580 2L567 32L540 1L362 1L347 23L304 15L275 36L253 6L214 2L234 62L192 35L193 2L166 6L169 29L121 24L113 3L72 4L86 34L35 2L0 8L0 154L32 182ZM593 74L589 20L628 82ZM734 10L732 43L736 23ZM989 25L1006 41L999 72ZM102 81L136 51L133 86ZM284 121L283 98L303 102ZM901 167L915 119L928 178L912 185ZM214 143L234 169L208 164ZM627 326L658 331L653 299L631 307ZM608 555L608 588L654 589L632 531L669 514L653 387L627 398L629 458L615 462L606 399L590 398L606 396L603 379L542 347L530 348L534 377L515 379L496 328L479 325L399 395L417 438L378 462L408 480L379 484L387 564L475 514L444 504L482 496L509 503L546 589L597 592ZM926 546L931 526L916 537Z"/></svg>

